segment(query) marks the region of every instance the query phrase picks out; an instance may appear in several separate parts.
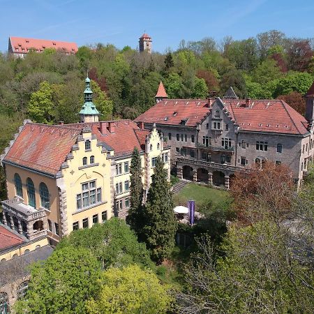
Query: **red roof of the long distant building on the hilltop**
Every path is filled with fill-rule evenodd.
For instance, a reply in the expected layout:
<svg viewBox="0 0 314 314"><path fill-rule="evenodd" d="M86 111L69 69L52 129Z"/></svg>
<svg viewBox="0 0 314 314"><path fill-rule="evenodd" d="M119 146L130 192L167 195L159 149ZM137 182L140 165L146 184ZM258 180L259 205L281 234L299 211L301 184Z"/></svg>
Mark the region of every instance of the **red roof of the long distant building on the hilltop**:
<svg viewBox="0 0 314 314"><path fill-rule="evenodd" d="M56 50L62 50L69 54L75 54L77 52L76 43L68 43L66 41L59 40L46 40L35 38L23 38L13 37L9 38L13 52L26 54L29 49L33 48L38 52L45 50L46 48L54 48Z"/></svg>

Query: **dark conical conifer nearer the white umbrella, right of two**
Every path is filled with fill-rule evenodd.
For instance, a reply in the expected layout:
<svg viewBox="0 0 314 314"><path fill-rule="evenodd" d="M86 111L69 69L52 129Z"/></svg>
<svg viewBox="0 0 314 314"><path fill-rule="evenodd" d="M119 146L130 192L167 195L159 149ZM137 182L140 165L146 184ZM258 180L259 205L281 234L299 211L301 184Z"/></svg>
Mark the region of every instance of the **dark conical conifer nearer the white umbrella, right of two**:
<svg viewBox="0 0 314 314"><path fill-rule="evenodd" d="M143 234L147 247L151 249L151 257L162 262L174 247L174 236L177 222L174 218L172 193L167 181L167 170L163 167L160 157L144 207Z"/></svg>

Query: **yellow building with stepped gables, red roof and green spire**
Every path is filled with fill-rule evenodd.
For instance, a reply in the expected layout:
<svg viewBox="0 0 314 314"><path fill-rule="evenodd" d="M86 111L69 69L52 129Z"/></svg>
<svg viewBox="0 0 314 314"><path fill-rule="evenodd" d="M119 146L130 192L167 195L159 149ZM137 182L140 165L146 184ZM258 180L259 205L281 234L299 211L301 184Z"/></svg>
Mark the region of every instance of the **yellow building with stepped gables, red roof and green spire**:
<svg viewBox="0 0 314 314"><path fill-rule="evenodd" d="M47 244L47 239L55 244L71 231L113 215L125 217L135 147L146 193L158 156L170 179L170 147L156 128L144 129L130 120L98 121L89 78L84 98L81 123L52 126L24 121L1 155L8 190L8 200L1 202L2 224L34 247L37 241ZM15 253L11 250L3 258Z"/></svg>

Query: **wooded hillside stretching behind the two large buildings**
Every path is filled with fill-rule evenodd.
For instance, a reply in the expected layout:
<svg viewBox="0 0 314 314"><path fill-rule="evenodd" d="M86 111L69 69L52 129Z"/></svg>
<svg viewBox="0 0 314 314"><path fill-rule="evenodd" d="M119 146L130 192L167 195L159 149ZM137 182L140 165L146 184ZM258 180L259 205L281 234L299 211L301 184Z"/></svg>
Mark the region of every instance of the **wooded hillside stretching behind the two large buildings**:
<svg viewBox="0 0 314 314"><path fill-rule="evenodd" d="M177 50L140 53L126 46L82 46L66 55L47 49L24 59L0 54L0 149L23 119L55 124L79 120L89 73L100 119L135 119L154 105L158 83L169 98L223 96L282 98L301 114L314 79L314 41L266 31L254 38L181 40ZM4 197L3 176L1 193Z"/></svg>

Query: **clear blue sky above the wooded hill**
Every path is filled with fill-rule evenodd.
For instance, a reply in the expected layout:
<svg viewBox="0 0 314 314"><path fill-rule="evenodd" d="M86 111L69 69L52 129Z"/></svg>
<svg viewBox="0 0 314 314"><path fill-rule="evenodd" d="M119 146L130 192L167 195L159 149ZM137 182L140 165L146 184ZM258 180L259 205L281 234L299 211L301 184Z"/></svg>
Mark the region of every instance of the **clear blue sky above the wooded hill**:
<svg viewBox="0 0 314 314"><path fill-rule="evenodd" d="M137 47L144 30L153 50L179 41L244 39L270 29L314 37L313 0L0 0L0 51L9 36Z"/></svg>

